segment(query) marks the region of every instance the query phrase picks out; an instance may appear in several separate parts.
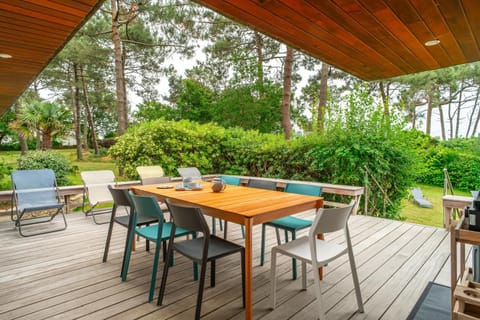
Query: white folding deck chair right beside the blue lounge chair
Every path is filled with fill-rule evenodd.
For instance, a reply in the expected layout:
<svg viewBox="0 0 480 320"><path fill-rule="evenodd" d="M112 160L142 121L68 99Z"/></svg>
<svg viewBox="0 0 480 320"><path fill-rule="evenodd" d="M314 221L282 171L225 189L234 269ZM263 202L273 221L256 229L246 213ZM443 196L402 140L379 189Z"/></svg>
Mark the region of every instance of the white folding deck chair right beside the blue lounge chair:
<svg viewBox="0 0 480 320"><path fill-rule="evenodd" d="M115 185L115 174L111 170L82 171L80 176L83 181L83 206L82 211L86 216L92 216L96 224L109 223L97 222L95 216L112 212L112 208L96 209L98 205L110 203L113 205L109 185ZM87 209L88 206L88 209Z"/></svg>

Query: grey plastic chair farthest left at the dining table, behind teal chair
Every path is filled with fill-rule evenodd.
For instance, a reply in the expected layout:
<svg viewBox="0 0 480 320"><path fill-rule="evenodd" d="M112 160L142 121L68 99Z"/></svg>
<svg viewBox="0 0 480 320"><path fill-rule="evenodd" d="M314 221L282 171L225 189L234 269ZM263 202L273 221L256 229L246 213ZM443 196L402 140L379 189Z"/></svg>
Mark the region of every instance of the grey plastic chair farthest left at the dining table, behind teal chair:
<svg viewBox="0 0 480 320"><path fill-rule="evenodd" d="M114 188L112 186L108 186L108 190L112 194L113 198L113 208L112 208L112 216L110 217L110 224L108 226L107 232L107 239L105 241L105 249L103 251L103 262L107 262L108 258L108 251L110 249L110 240L112 238L112 231L113 225L118 223L122 227L128 228L130 223L133 221L133 205L130 201L128 196L128 189L125 188ZM127 214L125 215L117 215L117 210L119 207L125 207L127 209ZM158 223L158 219L155 217L145 217L143 215L139 215L137 217L137 226L149 226L150 224ZM127 237L125 239L125 249L127 248L127 242L130 236L131 228L128 228ZM150 250L150 241L146 241L146 250ZM166 253L165 253L166 254ZM123 265L125 262L125 252L123 253L122 261L122 273L123 273Z"/></svg>

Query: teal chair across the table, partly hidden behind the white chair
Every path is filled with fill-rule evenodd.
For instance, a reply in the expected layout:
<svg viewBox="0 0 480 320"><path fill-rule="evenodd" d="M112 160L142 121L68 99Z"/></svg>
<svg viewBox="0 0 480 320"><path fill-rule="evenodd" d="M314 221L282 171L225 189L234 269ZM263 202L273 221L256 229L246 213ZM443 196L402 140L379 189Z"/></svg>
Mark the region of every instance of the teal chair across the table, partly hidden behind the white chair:
<svg viewBox="0 0 480 320"><path fill-rule="evenodd" d="M318 197L322 193L322 187L310 184L288 183L285 187L285 192ZM262 224L262 247L260 252L260 265L263 266L265 262L265 232L267 226L275 228L275 232L277 234L277 243L278 245L280 245L281 241L279 229L282 229L285 232L285 242L288 242L288 232L292 234L292 240L295 240L297 231L310 228L311 225L311 220L301 219L294 216L283 217ZM297 279L297 261L295 259L292 259L292 277L294 280Z"/></svg>

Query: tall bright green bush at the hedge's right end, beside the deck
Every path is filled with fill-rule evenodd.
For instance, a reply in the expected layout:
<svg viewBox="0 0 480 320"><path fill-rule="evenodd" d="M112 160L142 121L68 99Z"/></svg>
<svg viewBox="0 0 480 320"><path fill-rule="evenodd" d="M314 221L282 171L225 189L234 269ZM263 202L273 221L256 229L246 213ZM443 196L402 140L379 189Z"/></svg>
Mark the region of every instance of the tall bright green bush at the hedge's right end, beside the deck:
<svg viewBox="0 0 480 320"><path fill-rule="evenodd" d="M398 218L415 172L411 133L394 116L384 117L366 88L352 92L346 108L336 109L342 115L329 123L324 139L310 152L312 166L322 181L368 183L369 213Z"/></svg>

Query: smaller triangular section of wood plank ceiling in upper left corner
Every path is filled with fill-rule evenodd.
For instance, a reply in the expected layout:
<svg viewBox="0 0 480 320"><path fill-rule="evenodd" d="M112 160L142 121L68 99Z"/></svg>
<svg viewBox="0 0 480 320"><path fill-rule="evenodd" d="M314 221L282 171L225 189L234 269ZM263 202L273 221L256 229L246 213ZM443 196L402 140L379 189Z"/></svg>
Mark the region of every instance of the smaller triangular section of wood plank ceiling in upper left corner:
<svg viewBox="0 0 480 320"><path fill-rule="evenodd" d="M0 0L0 114L103 0Z"/></svg>

